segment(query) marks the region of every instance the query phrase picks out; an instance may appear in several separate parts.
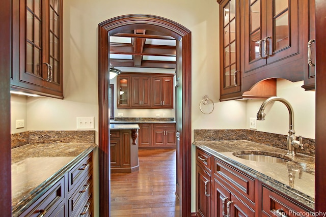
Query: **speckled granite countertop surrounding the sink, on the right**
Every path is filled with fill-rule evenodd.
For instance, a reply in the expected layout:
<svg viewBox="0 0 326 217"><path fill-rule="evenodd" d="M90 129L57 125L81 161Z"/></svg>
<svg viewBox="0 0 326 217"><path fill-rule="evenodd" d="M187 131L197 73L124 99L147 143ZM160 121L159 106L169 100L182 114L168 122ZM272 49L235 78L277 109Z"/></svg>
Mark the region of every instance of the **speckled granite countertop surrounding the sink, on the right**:
<svg viewBox="0 0 326 217"><path fill-rule="evenodd" d="M292 161L286 163L256 162L235 157L233 152L256 150L280 157L286 156L287 150L247 140L195 141L193 144L314 210L314 157L297 153ZM293 182L289 176L294 178Z"/></svg>

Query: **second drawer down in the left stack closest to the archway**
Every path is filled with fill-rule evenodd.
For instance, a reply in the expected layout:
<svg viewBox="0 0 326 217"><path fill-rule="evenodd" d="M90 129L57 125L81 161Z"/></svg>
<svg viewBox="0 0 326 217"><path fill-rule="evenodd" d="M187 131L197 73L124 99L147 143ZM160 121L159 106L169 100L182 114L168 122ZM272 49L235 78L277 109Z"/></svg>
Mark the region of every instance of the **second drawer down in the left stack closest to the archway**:
<svg viewBox="0 0 326 217"><path fill-rule="evenodd" d="M92 172L90 172L84 180L84 182L78 185L78 188L69 199L69 216L78 216L82 212L82 208L87 205L88 199L92 196Z"/></svg>

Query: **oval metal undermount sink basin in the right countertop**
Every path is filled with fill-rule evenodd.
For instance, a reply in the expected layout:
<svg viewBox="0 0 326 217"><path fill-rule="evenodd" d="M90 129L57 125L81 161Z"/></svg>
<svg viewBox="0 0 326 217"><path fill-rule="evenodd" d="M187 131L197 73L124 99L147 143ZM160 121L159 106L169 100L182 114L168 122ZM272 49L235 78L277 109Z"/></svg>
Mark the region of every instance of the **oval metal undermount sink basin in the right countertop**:
<svg viewBox="0 0 326 217"><path fill-rule="evenodd" d="M237 158L256 162L285 163L292 161L290 157L284 154L266 151L235 151L232 154Z"/></svg>

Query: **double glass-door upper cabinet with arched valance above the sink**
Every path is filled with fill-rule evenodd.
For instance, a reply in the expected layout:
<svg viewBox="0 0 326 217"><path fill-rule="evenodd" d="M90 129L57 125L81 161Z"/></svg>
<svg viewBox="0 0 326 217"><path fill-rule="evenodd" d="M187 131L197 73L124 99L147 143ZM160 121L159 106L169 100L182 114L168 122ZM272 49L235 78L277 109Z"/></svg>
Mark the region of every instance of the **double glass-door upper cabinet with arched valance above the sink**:
<svg viewBox="0 0 326 217"><path fill-rule="evenodd" d="M303 39L309 32L303 23L308 19L308 0L243 2L244 88L267 78L303 80L307 56Z"/></svg>

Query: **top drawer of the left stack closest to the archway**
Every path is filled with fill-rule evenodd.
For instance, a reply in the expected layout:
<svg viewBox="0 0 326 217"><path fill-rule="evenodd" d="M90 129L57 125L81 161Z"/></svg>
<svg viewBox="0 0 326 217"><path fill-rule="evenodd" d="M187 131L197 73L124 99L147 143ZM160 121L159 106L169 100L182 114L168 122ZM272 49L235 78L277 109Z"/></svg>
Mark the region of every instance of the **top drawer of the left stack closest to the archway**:
<svg viewBox="0 0 326 217"><path fill-rule="evenodd" d="M93 168L93 152L80 161L74 168L68 172L68 193L74 188L79 181L84 178Z"/></svg>

